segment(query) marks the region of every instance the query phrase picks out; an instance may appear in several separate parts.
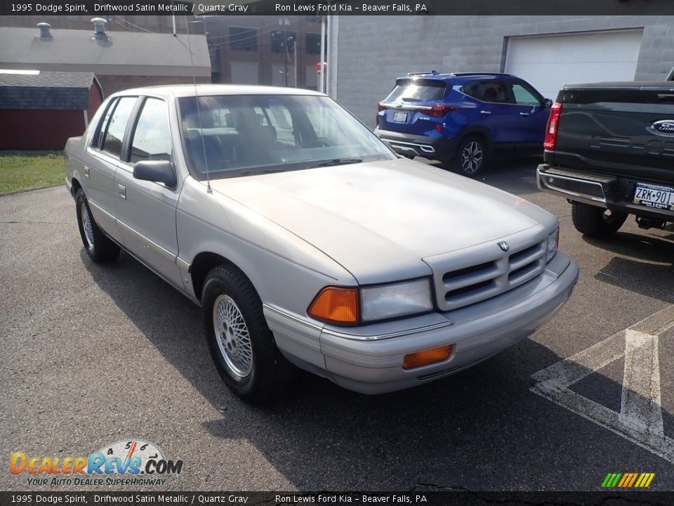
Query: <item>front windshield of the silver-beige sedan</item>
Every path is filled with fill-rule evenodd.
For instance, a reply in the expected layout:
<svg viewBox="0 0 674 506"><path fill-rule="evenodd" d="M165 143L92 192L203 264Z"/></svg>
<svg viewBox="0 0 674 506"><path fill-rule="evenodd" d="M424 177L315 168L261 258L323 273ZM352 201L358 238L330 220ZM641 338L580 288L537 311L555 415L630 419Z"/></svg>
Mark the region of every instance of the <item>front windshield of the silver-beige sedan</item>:
<svg viewBox="0 0 674 506"><path fill-rule="evenodd" d="M180 98L183 142L199 180L355 162L395 155L330 98L219 95Z"/></svg>

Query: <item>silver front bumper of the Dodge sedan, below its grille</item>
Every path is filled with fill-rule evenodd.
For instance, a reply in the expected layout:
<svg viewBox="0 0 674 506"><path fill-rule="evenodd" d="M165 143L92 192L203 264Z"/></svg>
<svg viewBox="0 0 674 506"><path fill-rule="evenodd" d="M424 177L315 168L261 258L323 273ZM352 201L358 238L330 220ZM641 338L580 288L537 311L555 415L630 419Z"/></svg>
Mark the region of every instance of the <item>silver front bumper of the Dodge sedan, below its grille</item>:
<svg viewBox="0 0 674 506"><path fill-rule="evenodd" d="M346 389L383 394L451 375L531 335L571 297L578 275L577 264L557 252L534 280L447 313L353 329L310 325L308 332L296 319L283 321L277 311L265 310L265 316L279 349L293 363ZM446 361L402 368L407 353L445 344L454 344Z"/></svg>

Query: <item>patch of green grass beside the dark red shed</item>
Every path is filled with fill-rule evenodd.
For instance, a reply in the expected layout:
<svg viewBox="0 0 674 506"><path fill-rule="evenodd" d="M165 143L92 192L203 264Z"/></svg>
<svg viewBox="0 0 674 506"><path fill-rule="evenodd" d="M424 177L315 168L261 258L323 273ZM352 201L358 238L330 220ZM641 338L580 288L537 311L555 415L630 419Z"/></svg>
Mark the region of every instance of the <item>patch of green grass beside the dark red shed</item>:
<svg viewBox="0 0 674 506"><path fill-rule="evenodd" d="M63 155L0 155L0 195L65 181Z"/></svg>

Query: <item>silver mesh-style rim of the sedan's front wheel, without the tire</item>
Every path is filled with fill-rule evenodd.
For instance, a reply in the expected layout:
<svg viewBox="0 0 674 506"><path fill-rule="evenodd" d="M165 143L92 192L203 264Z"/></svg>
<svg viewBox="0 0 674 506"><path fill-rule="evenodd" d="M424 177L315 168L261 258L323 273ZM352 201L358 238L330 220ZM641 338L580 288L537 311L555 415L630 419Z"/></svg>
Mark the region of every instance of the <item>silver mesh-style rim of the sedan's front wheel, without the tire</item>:
<svg viewBox="0 0 674 506"><path fill-rule="evenodd" d="M219 295L213 302L213 331L232 376L241 380L253 370L253 346L244 316L234 299Z"/></svg>

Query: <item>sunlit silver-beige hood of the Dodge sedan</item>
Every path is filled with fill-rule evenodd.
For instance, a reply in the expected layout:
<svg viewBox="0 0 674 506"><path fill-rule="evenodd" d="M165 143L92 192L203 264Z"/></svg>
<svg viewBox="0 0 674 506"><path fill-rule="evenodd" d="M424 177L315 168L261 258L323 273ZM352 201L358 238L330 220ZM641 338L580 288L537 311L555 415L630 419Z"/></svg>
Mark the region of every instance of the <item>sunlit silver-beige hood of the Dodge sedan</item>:
<svg viewBox="0 0 674 506"><path fill-rule="evenodd" d="M211 187L310 243L360 284L429 275L425 257L505 237L546 216L554 221L515 195L409 160L220 179Z"/></svg>

